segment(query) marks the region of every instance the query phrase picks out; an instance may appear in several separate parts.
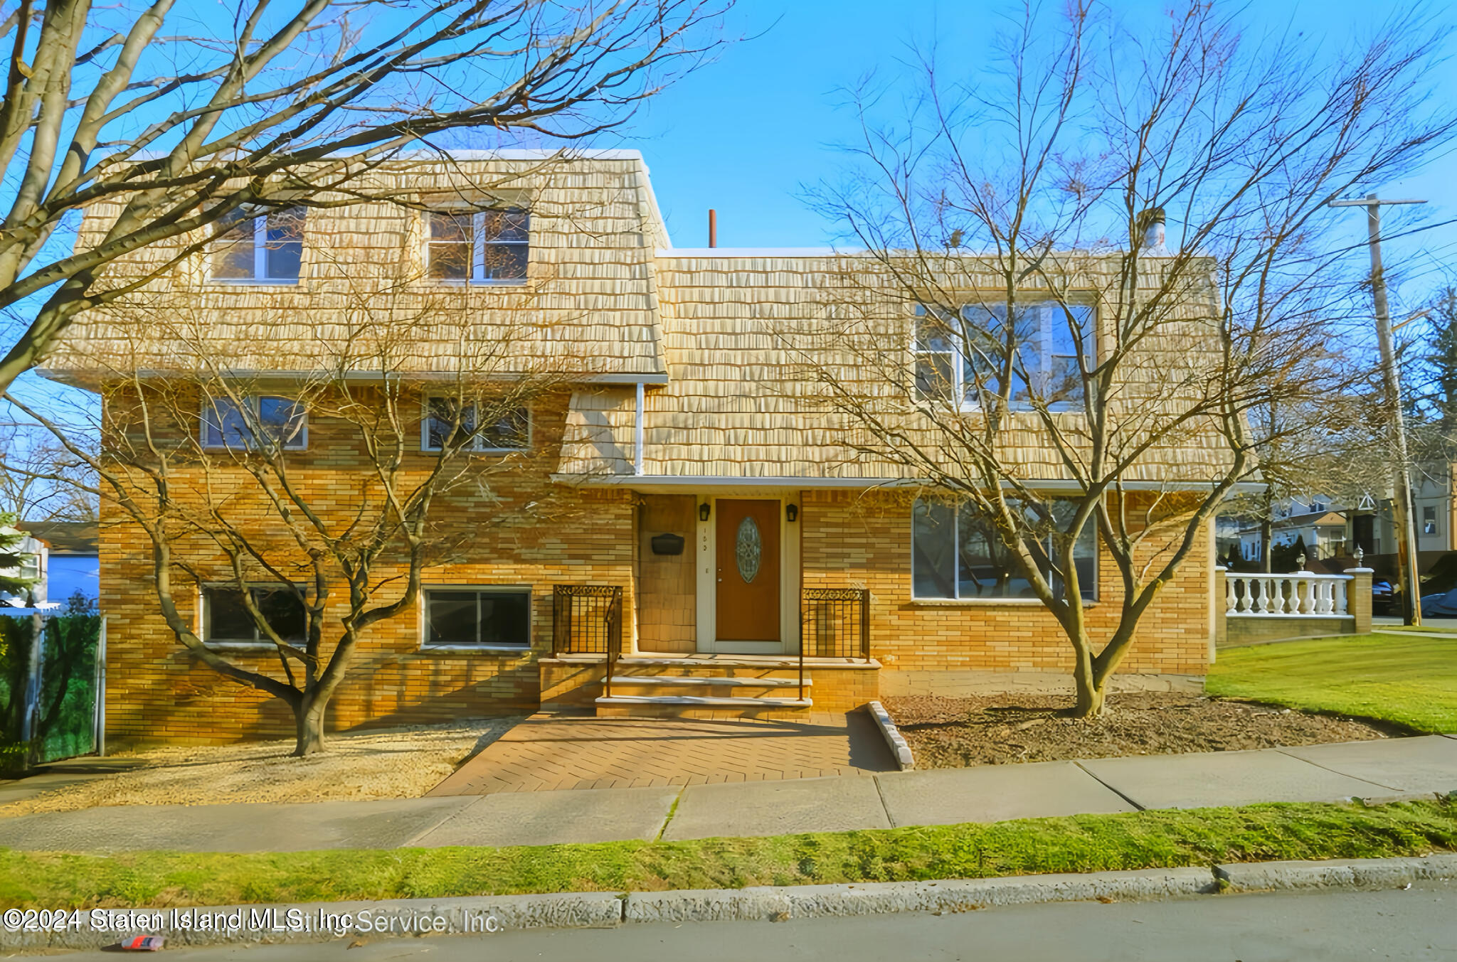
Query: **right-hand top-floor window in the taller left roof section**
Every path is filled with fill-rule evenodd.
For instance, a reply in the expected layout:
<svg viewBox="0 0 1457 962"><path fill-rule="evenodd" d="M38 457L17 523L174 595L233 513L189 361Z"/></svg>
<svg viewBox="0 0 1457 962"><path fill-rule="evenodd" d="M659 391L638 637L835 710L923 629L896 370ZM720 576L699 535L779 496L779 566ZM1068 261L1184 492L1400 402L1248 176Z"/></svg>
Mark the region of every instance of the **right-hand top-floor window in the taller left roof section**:
<svg viewBox="0 0 1457 962"><path fill-rule="evenodd" d="M425 266L431 279L522 284L530 252L530 214L519 207L430 211Z"/></svg>

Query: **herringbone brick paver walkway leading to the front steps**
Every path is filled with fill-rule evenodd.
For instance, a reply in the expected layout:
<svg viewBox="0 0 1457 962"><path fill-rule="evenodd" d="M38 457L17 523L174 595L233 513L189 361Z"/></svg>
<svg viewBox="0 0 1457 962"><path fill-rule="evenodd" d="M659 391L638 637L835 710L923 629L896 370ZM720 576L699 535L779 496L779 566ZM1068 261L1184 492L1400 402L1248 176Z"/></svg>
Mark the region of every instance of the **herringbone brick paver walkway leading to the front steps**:
<svg viewBox="0 0 1457 962"><path fill-rule="evenodd" d="M864 712L806 720L533 715L430 795L631 789L895 771Z"/></svg>

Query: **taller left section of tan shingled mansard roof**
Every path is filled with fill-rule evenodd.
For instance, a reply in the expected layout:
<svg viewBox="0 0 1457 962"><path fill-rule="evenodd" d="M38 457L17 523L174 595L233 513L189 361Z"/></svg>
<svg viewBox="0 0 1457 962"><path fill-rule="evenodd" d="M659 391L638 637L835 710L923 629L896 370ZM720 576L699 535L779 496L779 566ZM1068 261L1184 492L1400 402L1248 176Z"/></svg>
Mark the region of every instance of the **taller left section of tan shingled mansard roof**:
<svg viewBox="0 0 1457 962"><path fill-rule="evenodd" d="M220 282L208 255L191 253L77 319L47 373L98 381L138 370L256 375L342 365L405 375L466 368L666 378L654 252L669 239L637 151L405 157L318 199L306 212L297 284ZM423 212L482 205L529 211L526 282L430 279ZM106 204L87 210L80 243L96 242L117 212ZM156 269L182 247L178 240L144 250L118 263L112 281Z"/></svg>

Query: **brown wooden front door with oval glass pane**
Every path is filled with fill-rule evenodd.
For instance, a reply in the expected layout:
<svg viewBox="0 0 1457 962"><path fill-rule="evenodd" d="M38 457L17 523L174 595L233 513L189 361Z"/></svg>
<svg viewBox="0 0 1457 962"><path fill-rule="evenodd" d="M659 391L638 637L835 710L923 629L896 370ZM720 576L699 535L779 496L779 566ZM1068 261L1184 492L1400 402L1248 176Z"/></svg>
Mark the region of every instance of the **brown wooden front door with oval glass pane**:
<svg viewBox="0 0 1457 962"><path fill-rule="evenodd" d="M718 499L718 640L779 640L779 502Z"/></svg>

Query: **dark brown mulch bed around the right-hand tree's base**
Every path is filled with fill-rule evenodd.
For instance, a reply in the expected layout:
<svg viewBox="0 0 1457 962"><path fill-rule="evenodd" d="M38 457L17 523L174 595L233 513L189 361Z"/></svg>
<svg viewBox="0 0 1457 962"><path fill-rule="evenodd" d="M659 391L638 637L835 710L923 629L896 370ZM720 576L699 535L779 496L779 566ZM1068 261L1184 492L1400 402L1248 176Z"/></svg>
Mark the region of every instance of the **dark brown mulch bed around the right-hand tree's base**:
<svg viewBox="0 0 1457 962"><path fill-rule="evenodd" d="M1046 694L881 699L911 742L918 768L1281 748L1406 734L1375 722L1166 693L1113 694L1103 717L1077 722L1064 716L1069 700Z"/></svg>

